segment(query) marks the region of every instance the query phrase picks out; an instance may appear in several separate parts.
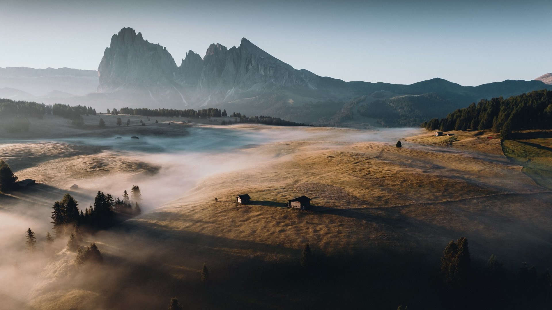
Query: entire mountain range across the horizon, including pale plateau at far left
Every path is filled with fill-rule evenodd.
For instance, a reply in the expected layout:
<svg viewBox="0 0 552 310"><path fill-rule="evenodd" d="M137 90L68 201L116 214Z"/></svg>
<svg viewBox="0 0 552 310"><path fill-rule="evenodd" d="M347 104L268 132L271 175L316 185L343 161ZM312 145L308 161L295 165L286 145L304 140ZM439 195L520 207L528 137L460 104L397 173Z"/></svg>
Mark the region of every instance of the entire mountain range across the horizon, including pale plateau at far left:
<svg viewBox="0 0 552 310"><path fill-rule="evenodd" d="M16 69L24 71L26 75L21 78L12 74L10 82L10 78L6 78L7 72L15 72ZM50 88L46 90L43 87L40 92L31 91L28 87L15 87L15 82L24 85L33 74L41 74L40 78L43 79L45 76L57 79L65 87L49 85ZM97 86L95 89L91 89L93 81ZM354 121L360 115L356 111L358 104L363 105L363 122L369 123L369 119L381 120L381 111L392 109L396 113L390 117L399 115L402 120L400 124L407 125L417 121L417 118L408 120L413 112L421 119L442 117L446 115L443 109L450 109L448 112L451 112L480 99L509 97L547 88L549 85L546 83L552 83L552 74L545 74L532 81L506 80L476 87L462 86L440 78L410 85L344 82L317 76L304 69L297 70L245 38L239 46L230 49L211 44L203 57L190 50L178 66L165 47L148 42L132 28L123 28L112 36L97 72L69 68L57 71L52 68L42 71L0 68L0 87L17 88L28 93L46 93L55 89L81 95L70 97L56 92L56 97L35 97L45 103L87 104L97 109L125 105L179 109L216 107L229 110L230 113L240 111L247 115L271 115L293 121L334 125L339 125L337 119ZM76 85L80 85L80 88ZM94 93L84 95L92 91ZM0 97L3 97L2 92L0 89ZM419 95L424 96L416 97ZM391 104L388 99L392 98L401 98L395 100L400 104ZM425 104L427 106L423 98L431 98ZM437 104L436 100L442 102L443 107L432 108ZM411 105L405 106L409 102ZM378 109L378 117L370 117L367 106L374 104L390 106ZM402 109L397 110L397 106ZM343 118L339 113L344 110L348 111L348 116ZM401 111L407 114L401 114ZM379 121L379 124L383 122Z"/></svg>

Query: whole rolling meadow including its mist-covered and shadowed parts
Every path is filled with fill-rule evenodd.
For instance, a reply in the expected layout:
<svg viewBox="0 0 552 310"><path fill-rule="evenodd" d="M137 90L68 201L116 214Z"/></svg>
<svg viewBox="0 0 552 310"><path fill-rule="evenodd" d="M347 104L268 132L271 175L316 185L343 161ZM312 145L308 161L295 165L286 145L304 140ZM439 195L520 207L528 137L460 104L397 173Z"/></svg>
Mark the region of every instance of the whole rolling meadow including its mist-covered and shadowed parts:
<svg viewBox="0 0 552 310"><path fill-rule="evenodd" d="M1 288L4 304L164 309L177 296L190 309L439 309L429 284L444 246L460 236L475 265L495 254L509 269L550 267L550 180L524 160L548 163L547 138L541 147L505 141L505 156L489 132L147 124L0 145L20 179L39 183L0 197L0 216L13 220L1 244L14 249L0 254L0 270L18 280ZM140 185L145 212L84 234L103 265L76 268L66 237L53 253L22 259L29 226L48 251L50 208L73 183L82 209L98 190L117 197ZM237 194L251 203L237 204ZM289 209L301 195L311 209ZM299 265L306 243L316 271ZM203 264L209 283L200 281Z"/></svg>

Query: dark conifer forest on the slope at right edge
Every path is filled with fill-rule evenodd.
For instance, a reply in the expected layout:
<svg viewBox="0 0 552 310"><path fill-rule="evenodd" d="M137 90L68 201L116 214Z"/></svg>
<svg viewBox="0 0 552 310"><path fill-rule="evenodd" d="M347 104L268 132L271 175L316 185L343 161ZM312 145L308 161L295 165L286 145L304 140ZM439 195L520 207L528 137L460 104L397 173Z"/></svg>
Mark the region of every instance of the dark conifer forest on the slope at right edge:
<svg viewBox="0 0 552 310"><path fill-rule="evenodd" d="M535 90L509 98L481 99L443 119L421 124L428 130L486 130L508 137L514 130L552 128L552 91Z"/></svg>

